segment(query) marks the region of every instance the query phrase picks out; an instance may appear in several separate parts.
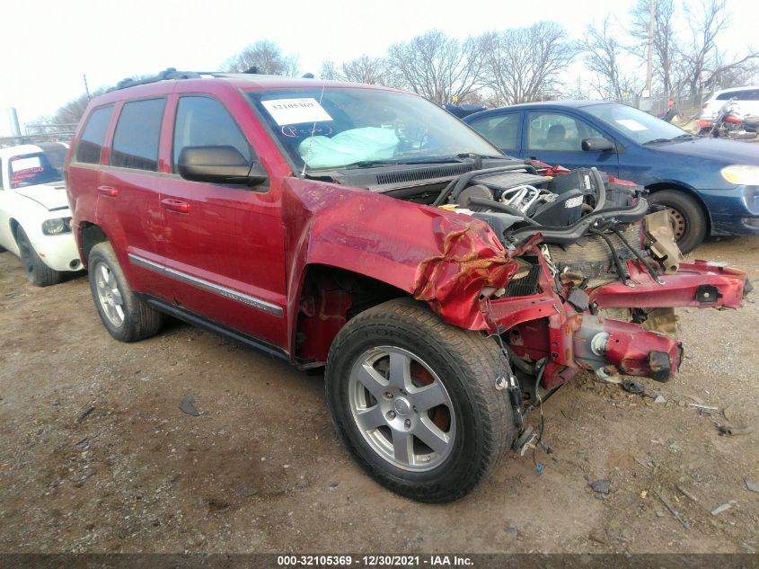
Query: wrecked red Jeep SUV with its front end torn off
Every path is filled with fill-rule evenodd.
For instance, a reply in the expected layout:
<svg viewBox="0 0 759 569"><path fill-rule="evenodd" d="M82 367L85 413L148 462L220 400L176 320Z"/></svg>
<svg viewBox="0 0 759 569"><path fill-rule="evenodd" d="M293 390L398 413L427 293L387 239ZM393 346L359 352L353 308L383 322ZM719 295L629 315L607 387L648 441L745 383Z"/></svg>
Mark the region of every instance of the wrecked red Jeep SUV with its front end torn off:
<svg viewBox="0 0 759 569"><path fill-rule="evenodd" d="M170 69L93 99L65 171L114 338L168 314L325 366L353 457L419 501L471 492L578 370L666 380L673 307L746 285L685 263L642 188L389 88Z"/></svg>

